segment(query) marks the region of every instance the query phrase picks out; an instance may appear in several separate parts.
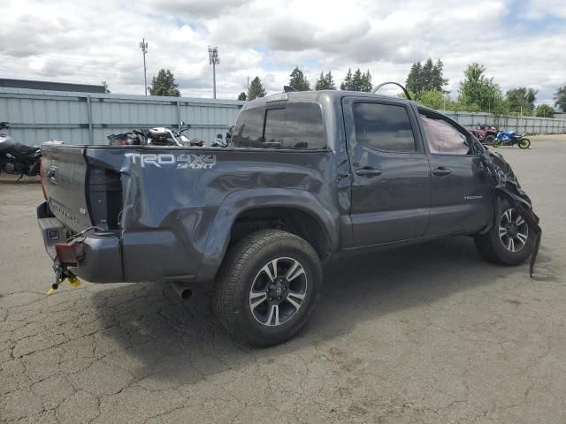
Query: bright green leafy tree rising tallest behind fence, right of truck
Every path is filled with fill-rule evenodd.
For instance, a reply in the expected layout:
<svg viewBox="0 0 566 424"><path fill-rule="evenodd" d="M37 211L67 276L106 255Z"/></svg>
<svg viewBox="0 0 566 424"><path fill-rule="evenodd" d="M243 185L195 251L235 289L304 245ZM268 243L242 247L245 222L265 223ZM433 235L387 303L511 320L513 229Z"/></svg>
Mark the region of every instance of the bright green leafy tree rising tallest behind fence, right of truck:
<svg viewBox="0 0 566 424"><path fill-rule="evenodd" d="M493 112L502 115L509 111L509 103L503 99L501 87L493 78L485 75L486 67L482 64L469 64L460 82L458 102L463 110Z"/></svg>

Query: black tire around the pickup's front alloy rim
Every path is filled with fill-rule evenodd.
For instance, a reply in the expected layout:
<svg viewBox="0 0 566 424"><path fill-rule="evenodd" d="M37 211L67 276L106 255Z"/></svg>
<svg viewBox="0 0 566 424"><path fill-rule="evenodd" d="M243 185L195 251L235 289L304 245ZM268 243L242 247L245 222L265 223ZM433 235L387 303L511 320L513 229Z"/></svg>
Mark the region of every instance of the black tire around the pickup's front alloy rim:
<svg viewBox="0 0 566 424"><path fill-rule="evenodd" d="M520 265L531 256L535 238L533 231L528 228L528 225L526 223L521 223L517 230L523 232L518 233L524 234L526 232L527 239L520 248L517 248L518 246L515 246L515 243L518 244L517 240L521 239L514 239L513 248L515 248L516 251L513 252L509 249L509 239L511 239L511 237L509 237L509 233L507 232L508 230L506 229L505 234L500 237L500 227L501 224L504 223L504 215L508 213L509 210L511 210L510 216L512 216L512 221L517 223L518 221L515 219L518 217L516 209L511 207L509 201L502 200L500 212L497 214L499 217L498 222L495 223L493 229L486 234L478 234L474 236L474 241L476 243L478 253L486 259L486 261L501 265L515 266ZM524 220L522 221L524 222ZM526 231L524 230L525 228Z"/></svg>

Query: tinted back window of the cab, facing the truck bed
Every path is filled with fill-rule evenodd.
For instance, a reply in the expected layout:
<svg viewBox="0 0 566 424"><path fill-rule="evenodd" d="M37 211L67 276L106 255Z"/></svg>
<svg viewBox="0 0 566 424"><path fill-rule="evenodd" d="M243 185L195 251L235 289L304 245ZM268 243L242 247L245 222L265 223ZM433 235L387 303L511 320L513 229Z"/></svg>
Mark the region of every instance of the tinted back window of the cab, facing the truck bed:
<svg viewBox="0 0 566 424"><path fill-rule="evenodd" d="M317 103L243 110L234 128L233 147L325 148L322 110Z"/></svg>

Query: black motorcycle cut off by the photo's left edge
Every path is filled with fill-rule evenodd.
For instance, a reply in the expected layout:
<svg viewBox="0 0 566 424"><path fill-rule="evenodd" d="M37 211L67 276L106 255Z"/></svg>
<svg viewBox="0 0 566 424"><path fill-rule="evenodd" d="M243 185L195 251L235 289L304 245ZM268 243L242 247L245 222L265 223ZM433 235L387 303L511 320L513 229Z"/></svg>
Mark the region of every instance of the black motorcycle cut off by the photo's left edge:
<svg viewBox="0 0 566 424"><path fill-rule="evenodd" d="M0 131L10 126L0 122ZM0 173L19 175L18 181L27 175L39 174L42 150L38 146L27 146L14 141L9 135L0 133Z"/></svg>

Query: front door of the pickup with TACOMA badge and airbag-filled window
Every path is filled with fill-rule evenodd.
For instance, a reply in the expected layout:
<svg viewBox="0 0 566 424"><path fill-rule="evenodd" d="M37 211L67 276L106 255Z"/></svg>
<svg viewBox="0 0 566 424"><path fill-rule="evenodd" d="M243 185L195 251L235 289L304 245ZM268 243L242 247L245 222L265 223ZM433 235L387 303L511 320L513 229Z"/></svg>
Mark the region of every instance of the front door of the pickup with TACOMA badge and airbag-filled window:
<svg viewBox="0 0 566 424"><path fill-rule="evenodd" d="M426 236L478 231L493 220L493 184L471 154L470 134L431 110L418 110L432 170L431 219Z"/></svg>

